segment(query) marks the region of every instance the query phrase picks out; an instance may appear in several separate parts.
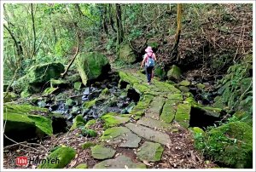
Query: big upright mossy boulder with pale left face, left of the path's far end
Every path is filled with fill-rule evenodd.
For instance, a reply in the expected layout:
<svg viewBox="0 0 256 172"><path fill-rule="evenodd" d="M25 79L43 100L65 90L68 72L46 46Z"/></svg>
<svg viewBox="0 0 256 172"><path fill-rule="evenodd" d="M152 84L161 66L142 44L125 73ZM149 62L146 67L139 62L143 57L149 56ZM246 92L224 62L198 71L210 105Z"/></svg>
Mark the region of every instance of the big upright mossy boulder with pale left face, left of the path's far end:
<svg viewBox="0 0 256 172"><path fill-rule="evenodd" d="M86 85L89 80L97 79L108 74L110 65L104 54L97 52L80 53L76 58L76 66L82 83Z"/></svg>

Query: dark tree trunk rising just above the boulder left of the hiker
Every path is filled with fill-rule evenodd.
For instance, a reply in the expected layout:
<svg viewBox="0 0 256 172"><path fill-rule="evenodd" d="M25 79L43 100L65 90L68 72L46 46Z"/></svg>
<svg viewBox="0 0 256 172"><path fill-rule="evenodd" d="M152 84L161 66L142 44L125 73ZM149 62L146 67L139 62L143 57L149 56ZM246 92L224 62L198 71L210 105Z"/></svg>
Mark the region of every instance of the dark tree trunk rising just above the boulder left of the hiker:
<svg viewBox="0 0 256 172"><path fill-rule="evenodd" d="M118 37L118 45L124 40L124 30L122 25L122 12L121 6L119 3L115 4L116 9L116 26L117 26L117 37Z"/></svg>

